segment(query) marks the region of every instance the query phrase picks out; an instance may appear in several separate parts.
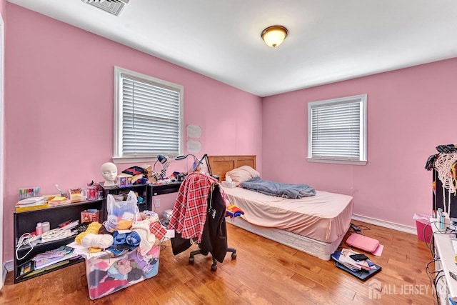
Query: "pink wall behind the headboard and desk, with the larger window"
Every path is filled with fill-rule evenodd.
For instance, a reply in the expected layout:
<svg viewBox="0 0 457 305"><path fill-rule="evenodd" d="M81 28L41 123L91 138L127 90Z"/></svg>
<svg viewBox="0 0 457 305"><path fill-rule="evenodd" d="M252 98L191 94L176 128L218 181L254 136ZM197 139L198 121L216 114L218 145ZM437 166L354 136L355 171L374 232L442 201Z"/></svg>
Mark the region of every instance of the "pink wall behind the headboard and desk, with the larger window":
<svg viewBox="0 0 457 305"><path fill-rule="evenodd" d="M184 86L184 124L201 126L201 154L256 154L261 164L258 96L20 6L7 9L6 261L13 258L20 187L41 186L49 194L54 184L69 189L102 179L100 166L113 153L114 66ZM184 171L184 164L174 166ZM174 198L165 198L161 209L170 209Z"/></svg>

